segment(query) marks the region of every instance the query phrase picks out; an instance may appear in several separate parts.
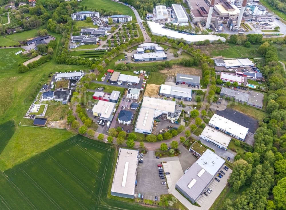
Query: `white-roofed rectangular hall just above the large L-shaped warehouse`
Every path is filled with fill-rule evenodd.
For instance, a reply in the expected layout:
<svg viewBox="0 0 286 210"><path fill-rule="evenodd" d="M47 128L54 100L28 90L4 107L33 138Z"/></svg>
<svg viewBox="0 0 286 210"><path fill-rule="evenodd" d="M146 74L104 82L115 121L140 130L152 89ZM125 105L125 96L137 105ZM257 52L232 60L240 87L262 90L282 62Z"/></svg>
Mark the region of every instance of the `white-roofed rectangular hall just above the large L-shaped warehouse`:
<svg viewBox="0 0 286 210"><path fill-rule="evenodd" d="M180 100L191 101L192 89L162 84L159 90L159 95L166 96L167 98L177 98Z"/></svg>

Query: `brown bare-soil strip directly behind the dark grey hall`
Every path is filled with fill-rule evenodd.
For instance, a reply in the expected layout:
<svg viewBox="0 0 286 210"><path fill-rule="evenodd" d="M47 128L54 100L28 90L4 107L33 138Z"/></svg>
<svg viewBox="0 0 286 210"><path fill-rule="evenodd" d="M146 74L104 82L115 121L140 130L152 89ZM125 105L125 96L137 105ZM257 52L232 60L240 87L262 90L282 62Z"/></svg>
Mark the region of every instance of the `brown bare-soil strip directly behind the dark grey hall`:
<svg viewBox="0 0 286 210"><path fill-rule="evenodd" d="M201 69L195 69L191 67L184 67L184 66L177 66L177 65L174 65L172 68L166 68L164 70L161 70L160 72L167 76L176 76L177 73L180 73L180 74L191 74L194 76L202 77Z"/></svg>

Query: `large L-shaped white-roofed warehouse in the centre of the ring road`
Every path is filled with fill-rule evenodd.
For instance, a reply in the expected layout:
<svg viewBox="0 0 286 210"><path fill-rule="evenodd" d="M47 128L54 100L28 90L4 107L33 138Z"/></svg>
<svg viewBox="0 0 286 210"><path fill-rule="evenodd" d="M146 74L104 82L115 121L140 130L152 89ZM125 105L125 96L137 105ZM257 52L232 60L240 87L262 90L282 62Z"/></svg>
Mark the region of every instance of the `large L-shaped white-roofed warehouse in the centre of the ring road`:
<svg viewBox="0 0 286 210"><path fill-rule="evenodd" d="M178 120L182 110L176 110L176 102L144 96L135 125L135 132L151 134L154 119L167 114L168 120Z"/></svg>

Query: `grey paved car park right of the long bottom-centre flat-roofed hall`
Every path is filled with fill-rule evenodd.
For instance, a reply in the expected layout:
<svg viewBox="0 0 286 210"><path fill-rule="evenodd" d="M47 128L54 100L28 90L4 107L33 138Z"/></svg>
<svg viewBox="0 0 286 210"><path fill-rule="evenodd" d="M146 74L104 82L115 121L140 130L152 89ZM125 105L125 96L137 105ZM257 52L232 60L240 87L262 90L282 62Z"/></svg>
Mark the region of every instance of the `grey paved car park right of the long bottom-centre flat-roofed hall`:
<svg viewBox="0 0 286 210"><path fill-rule="evenodd" d="M137 169L137 186L135 187L135 193L141 193L144 195L144 199L153 200L155 196L158 196L160 201L160 195L168 194L167 185L161 183L166 181L160 179L157 165L161 164L163 158L156 159L154 152L147 152L144 154L144 163L138 163Z"/></svg>

